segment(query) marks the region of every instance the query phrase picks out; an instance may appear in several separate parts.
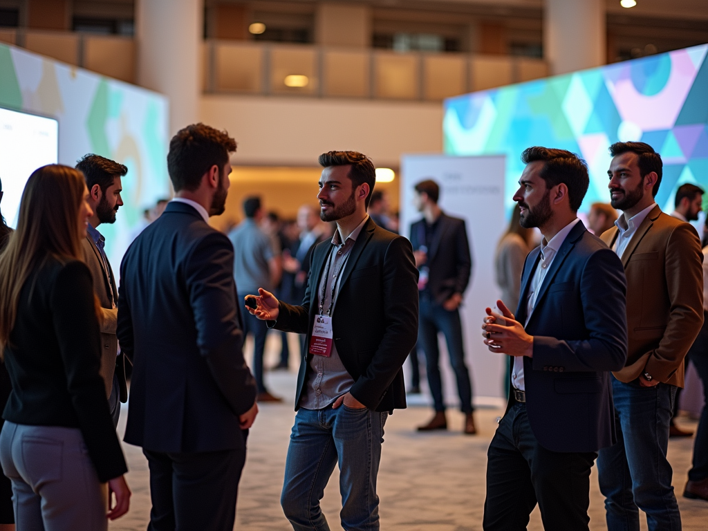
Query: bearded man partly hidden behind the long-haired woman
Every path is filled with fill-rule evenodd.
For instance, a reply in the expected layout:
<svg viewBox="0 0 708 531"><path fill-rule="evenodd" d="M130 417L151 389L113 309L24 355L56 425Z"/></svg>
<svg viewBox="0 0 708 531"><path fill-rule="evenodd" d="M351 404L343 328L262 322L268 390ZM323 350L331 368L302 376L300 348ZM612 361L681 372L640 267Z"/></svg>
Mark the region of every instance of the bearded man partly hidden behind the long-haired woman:
<svg viewBox="0 0 708 531"><path fill-rule="evenodd" d="M120 178L128 169L118 162L103 156L88 154L77 164L84 173L86 188L89 188L89 205L93 216L89 218L84 246L84 261L93 276L93 290L101 303L101 376L105 382L110 416L113 426L118 426L120 403L127 402L125 384L125 356L118 351L115 327L118 321L118 290L115 287L113 269L105 255L105 238L98 232L101 223L115 223L115 213L122 207Z"/></svg>

